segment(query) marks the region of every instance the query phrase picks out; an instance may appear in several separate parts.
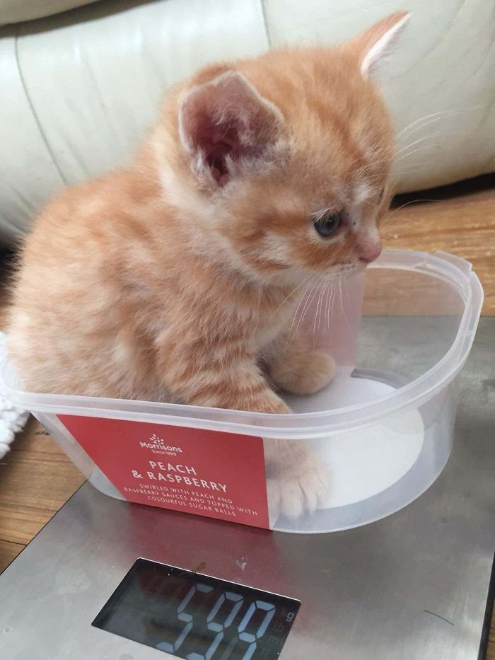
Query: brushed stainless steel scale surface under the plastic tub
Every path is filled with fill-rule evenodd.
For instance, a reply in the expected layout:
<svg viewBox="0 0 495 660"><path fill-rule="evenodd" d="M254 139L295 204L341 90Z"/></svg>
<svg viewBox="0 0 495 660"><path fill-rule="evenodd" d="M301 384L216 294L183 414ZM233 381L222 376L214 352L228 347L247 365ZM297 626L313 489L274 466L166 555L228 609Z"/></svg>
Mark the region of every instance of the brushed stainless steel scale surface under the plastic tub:
<svg viewBox="0 0 495 660"><path fill-rule="evenodd" d="M0 577L1 659L172 658L91 625L138 557L198 580L230 581L231 592L242 584L301 601L295 618L288 615L282 660L482 657L495 548L494 343L495 320L482 319L441 477L406 509L371 525L270 533L119 502L83 485ZM269 611L263 603L272 594L256 594L256 607ZM186 606L182 612L181 625L189 625ZM130 630L132 610L127 616ZM211 660L228 657L219 647Z"/></svg>

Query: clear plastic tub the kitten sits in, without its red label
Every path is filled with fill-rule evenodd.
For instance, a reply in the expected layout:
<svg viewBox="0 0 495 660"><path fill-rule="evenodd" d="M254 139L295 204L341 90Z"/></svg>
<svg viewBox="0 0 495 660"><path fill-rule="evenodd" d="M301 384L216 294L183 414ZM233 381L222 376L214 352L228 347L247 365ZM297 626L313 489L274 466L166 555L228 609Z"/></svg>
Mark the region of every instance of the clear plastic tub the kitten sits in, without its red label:
<svg viewBox="0 0 495 660"><path fill-rule="evenodd" d="M337 531L402 509L443 470L453 441L456 377L470 352L482 300L469 262L403 250L385 250L365 273L327 296L310 292L298 331L332 353L337 376L317 395L286 397L290 415L29 393L6 357L0 391L40 420L98 490L121 499L59 415L304 439L330 473L327 501L298 519L271 518L271 527Z"/></svg>

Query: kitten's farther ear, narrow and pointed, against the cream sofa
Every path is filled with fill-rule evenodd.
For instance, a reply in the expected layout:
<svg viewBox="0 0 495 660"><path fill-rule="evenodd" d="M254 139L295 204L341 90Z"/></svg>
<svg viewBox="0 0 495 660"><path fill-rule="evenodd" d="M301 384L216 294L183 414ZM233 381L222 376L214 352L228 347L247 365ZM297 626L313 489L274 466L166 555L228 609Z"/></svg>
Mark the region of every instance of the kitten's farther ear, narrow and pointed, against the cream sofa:
<svg viewBox="0 0 495 660"><path fill-rule="evenodd" d="M373 77L393 50L410 16L408 11L392 13L347 43L359 57L361 74L366 79Z"/></svg>

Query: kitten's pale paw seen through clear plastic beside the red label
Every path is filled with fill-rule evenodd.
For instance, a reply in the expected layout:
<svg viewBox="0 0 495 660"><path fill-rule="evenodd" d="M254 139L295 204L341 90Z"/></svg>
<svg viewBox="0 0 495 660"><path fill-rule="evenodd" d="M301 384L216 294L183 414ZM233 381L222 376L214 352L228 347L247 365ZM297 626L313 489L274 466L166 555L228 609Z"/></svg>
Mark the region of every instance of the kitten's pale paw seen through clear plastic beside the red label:
<svg viewBox="0 0 495 660"><path fill-rule="evenodd" d="M298 518L315 511L325 501L328 490L328 473L318 456L309 451L303 463L279 465L276 475L267 479L267 495L270 521L279 515Z"/></svg>

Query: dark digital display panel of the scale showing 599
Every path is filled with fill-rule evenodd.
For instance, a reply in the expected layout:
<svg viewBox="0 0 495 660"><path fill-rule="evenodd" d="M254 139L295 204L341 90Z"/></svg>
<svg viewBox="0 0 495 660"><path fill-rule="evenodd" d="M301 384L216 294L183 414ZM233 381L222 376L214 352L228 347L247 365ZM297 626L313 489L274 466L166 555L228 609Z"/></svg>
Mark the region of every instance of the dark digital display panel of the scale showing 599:
<svg viewBox="0 0 495 660"><path fill-rule="evenodd" d="M279 657L300 601L136 560L93 625L185 660Z"/></svg>

